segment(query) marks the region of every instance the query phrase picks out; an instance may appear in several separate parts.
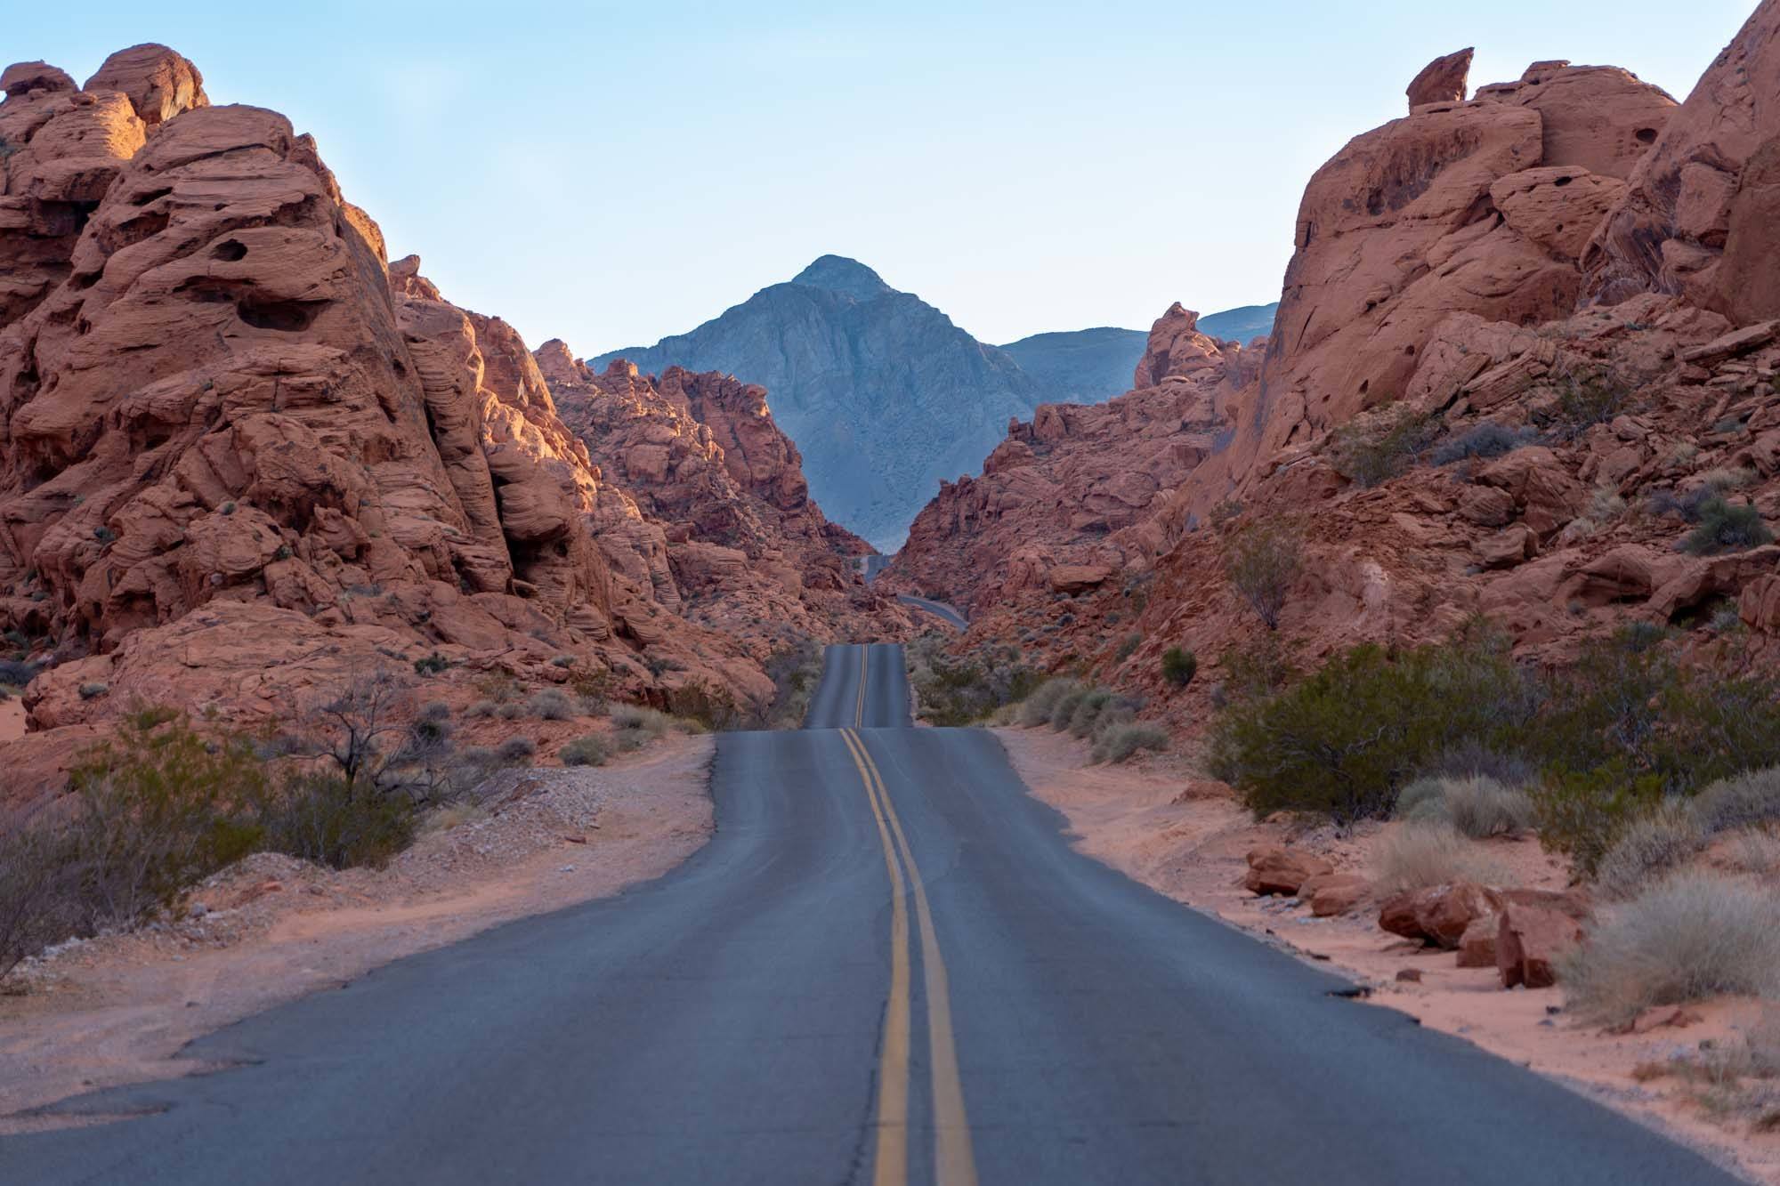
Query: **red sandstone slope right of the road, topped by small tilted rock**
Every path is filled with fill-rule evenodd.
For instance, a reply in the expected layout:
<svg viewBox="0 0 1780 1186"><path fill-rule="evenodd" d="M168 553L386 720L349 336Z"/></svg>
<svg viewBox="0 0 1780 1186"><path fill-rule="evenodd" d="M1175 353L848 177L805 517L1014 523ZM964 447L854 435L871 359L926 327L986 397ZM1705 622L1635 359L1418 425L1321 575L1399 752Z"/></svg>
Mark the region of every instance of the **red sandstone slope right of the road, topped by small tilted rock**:
<svg viewBox="0 0 1780 1186"><path fill-rule="evenodd" d="M1739 620L1755 645L1780 630L1780 548L1677 547L1712 491L1780 515L1766 321L1780 308L1762 280L1776 258L1762 212L1780 4L1757 9L1682 105L1566 62L1465 100L1468 55L1452 59L1417 80L1406 118L1355 137L1307 185L1258 376L1210 418L1109 433L1098 472L1032 499L1088 527L1095 483L1132 451L1209 440L1137 522L1105 540L1054 527L1040 536L1050 561L1027 573L1015 556L1041 516L991 475L981 493L942 493L886 579L974 602L979 638L1157 693L1161 648L1189 646L1209 678L1161 702L1189 716L1218 657L1264 634L1223 570L1230 532L1258 522L1301 540L1278 638L1305 664L1363 639L1440 638L1479 611L1552 661L1627 620L1702 646ZM1152 335L1139 386L1159 345L1173 367ZM1000 456L1029 433L1016 426ZM1157 541L1153 561L1114 547L1132 538ZM1084 561L1104 579L1084 586L1070 572ZM1075 588L1088 593L1052 600ZM1136 654L1116 654L1134 623Z"/></svg>

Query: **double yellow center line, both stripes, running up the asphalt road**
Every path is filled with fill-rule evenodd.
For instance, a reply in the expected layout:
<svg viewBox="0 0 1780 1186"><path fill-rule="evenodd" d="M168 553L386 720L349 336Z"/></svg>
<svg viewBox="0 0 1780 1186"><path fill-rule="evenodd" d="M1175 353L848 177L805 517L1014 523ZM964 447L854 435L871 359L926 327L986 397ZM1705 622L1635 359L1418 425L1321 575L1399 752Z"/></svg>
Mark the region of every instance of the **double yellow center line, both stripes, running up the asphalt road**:
<svg viewBox="0 0 1780 1186"><path fill-rule="evenodd" d="M870 652L863 652L870 655ZM860 661L860 698L854 721L865 721L865 659ZM920 883L915 853L902 833L902 821L890 801L878 762L865 741L851 728L840 739L865 784L865 798L878 821L878 841L890 873L890 1010L885 1017L881 1074L878 1077L878 1154L874 1186L908 1182L908 1054L910 1054L910 937L904 894L915 894L915 919L920 930L920 967L927 995L927 1067L933 1076L933 1174L940 1186L975 1186L977 1161L970 1150L970 1122L965 1115L965 1090L958 1081L958 1047L952 1042L952 997L945 978L945 960L933 930L927 890ZM894 842L892 842L894 837ZM901 864L897 857L901 855ZM908 869L904 880L902 869Z"/></svg>

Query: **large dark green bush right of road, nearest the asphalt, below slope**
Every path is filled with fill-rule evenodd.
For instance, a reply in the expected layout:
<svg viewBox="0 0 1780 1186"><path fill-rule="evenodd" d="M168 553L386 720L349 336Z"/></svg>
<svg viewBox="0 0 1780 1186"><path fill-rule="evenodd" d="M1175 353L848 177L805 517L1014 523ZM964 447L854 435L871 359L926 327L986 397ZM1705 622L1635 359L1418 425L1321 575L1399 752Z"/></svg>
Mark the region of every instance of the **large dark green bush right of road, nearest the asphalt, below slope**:
<svg viewBox="0 0 1780 1186"><path fill-rule="evenodd" d="M1536 709L1497 639L1397 654L1363 645L1273 696L1230 703L1209 766L1257 817L1307 810L1349 825L1388 816L1436 753L1513 735Z"/></svg>

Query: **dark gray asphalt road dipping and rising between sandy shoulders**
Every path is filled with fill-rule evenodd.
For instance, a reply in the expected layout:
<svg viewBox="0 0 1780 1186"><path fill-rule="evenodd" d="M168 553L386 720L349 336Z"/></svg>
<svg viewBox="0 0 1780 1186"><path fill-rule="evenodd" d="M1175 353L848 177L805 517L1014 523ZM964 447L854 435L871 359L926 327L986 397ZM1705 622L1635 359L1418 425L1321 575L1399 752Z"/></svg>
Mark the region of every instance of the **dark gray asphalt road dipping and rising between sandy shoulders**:
<svg viewBox="0 0 1780 1186"><path fill-rule="evenodd" d="M1075 853L993 734L837 646L726 734L717 832L619 898L199 1040L4 1182L1730 1182Z"/></svg>

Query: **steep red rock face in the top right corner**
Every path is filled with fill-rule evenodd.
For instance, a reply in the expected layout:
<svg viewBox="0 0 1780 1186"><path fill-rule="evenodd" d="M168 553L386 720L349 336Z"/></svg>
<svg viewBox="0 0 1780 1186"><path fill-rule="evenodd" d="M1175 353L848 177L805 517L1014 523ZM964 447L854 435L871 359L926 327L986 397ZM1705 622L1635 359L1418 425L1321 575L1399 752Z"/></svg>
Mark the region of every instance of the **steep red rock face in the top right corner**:
<svg viewBox="0 0 1780 1186"><path fill-rule="evenodd" d="M1764 0L1680 109L1654 128L1584 256L1588 294L1602 303L1677 294L1737 322L1780 315L1769 265L1780 246L1769 217L1776 135L1780 2Z"/></svg>

